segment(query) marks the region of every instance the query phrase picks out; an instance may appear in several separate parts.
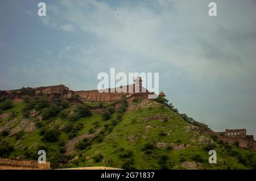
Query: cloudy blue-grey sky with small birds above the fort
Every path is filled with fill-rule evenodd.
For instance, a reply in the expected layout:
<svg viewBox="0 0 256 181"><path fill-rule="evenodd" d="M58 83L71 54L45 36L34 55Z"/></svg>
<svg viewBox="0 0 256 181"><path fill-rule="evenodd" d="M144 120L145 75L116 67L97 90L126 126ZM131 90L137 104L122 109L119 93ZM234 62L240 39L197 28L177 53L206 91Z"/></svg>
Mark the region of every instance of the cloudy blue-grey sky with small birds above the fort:
<svg viewBox="0 0 256 181"><path fill-rule="evenodd" d="M0 55L1 90L97 89L110 68L159 73L179 112L256 136L255 0L1 0Z"/></svg>

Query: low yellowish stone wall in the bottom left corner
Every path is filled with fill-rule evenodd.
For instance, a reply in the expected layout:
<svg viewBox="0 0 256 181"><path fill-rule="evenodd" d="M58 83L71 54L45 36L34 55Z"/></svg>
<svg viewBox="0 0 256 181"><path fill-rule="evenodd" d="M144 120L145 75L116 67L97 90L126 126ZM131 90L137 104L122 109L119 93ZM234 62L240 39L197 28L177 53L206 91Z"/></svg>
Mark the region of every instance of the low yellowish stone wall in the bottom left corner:
<svg viewBox="0 0 256 181"><path fill-rule="evenodd" d="M44 170L51 169L51 163L38 163L35 160L0 158L0 169L5 170Z"/></svg>

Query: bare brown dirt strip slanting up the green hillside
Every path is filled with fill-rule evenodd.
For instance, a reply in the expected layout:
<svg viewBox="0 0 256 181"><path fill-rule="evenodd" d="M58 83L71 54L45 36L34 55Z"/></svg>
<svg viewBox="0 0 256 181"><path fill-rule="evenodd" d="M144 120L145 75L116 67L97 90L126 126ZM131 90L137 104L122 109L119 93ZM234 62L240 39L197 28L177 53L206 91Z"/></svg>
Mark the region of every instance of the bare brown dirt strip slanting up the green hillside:
<svg viewBox="0 0 256 181"><path fill-rule="evenodd" d="M102 127L102 128L104 128L104 127ZM85 133L80 136L77 136L76 138L73 138L72 140L69 140L66 145L66 155L73 154L73 150L74 150L74 147L77 144L77 142L79 142L80 140L82 140L84 138L93 138L94 136L96 136L98 133L101 132L102 128L98 128L97 131L92 134Z"/></svg>

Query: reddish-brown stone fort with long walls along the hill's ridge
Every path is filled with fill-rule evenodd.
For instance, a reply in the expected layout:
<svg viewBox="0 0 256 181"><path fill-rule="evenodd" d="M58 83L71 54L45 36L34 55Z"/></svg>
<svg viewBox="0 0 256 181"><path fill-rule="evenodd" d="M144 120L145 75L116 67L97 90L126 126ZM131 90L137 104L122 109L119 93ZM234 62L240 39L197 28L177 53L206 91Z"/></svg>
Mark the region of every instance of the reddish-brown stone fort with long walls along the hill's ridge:
<svg viewBox="0 0 256 181"><path fill-rule="evenodd" d="M122 89L125 91L118 92L117 89ZM107 107L114 106L118 108L121 106L121 99L123 97L126 98L129 106L136 100L148 100L150 96L155 94L154 92L148 91L146 88L142 86L141 77L137 77L134 80L133 85L126 85L124 87L115 87L109 88L105 90L80 90L73 91L70 90L69 87L65 85L55 85L55 86L42 86L42 87L32 87L31 90L34 92L34 95L44 94L48 95L49 100L53 100L55 98L64 98L69 101L72 105L77 104L87 104L88 102L104 102L106 106L94 106L90 107L90 111L92 113L102 113ZM129 91L133 90L133 91ZM16 102L23 99L23 94L20 90L0 90L0 96L5 95L9 96L11 99L14 99ZM161 91L159 93L160 97L164 98L164 92ZM198 123L198 122L196 122ZM254 141L253 135L247 135L246 129L225 129L225 132L213 132L208 128L208 125L203 123L198 123L199 127L206 128L204 131L208 134L211 134L218 138L218 140L222 140L227 142L230 145L237 144L241 148L251 149L256 151L256 143Z"/></svg>

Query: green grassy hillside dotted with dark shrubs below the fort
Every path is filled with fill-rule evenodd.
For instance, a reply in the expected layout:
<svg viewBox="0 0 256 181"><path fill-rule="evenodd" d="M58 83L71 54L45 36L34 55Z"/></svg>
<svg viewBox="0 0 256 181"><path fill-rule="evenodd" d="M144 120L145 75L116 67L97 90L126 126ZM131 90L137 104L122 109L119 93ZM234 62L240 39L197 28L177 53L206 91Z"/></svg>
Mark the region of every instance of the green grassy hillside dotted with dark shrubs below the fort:
<svg viewBox="0 0 256 181"><path fill-rule="evenodd" d="M55 168L256 169L254 151L214 141L154 101L133 103L131 109L116 111L109 120L92 114L75 121L69 119L76 113L73 106L64 109L69 116L59 113L42 119L42 110L32 109L24 118L26 104L14 103L0 112L1 157L37 159L38 150L44 149ZM216 164L208 163L210 149L217 151Z"/></svg>

